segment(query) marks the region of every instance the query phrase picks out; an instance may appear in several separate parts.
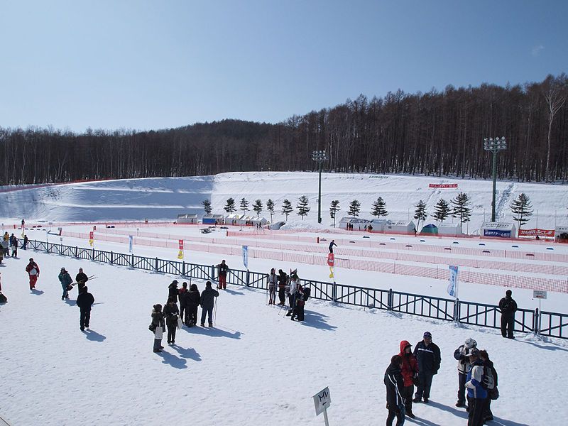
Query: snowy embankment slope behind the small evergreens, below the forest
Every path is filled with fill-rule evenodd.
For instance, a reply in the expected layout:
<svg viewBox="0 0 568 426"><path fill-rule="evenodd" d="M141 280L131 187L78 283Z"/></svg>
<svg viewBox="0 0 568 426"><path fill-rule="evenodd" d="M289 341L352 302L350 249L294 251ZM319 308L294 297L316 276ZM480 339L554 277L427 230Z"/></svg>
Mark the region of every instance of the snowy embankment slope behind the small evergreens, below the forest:
<svg viewBox="0 0 568 426"><path fill-rule="evenodd" d="M202 200L212 202L213 212L224 213L226 200L232 197L239 208L241 197L264 204L271 198L277 214L274 221L283 220L280 214L285 198L294 209L300 196L310 200L310 212L304 218L317 224L317 173L247 172L222 173L215 176L189 178L148 178L84 182L50 187L33 187L0 193L0 217L20 220L22 217L50 221L94 220L175 220L179 213L203 212ZM430 184L457 184L457 188L430 188ZM339 200L338 217L346 216L349 203L361 202L360 217L371 219L371 204L378 197L386 201L388 219L412 219L415 204L424 200L428 214L440 198L452 200L459 192L471 197L471 222L464 231L474 233L485 219L491 219L490 180L461 180L432 176L373 175L348 173L322 174L322 224L331 226L329 204ZM510 221L509 204L525 192L535 214L526 229L553 229L555 224L568 226L568 190L563 185L538 183L497 182L496 212L502 222ZM252 214L251 210L251 214ZM263 214L266 215L266 207ZM267 216L268 217L268 216ZM291 220L300 219L294 211ZM432 222L431 217L427 222ZM452 219L447 219L451 223ZM19 222L18 222L19 223Z"/></svg>

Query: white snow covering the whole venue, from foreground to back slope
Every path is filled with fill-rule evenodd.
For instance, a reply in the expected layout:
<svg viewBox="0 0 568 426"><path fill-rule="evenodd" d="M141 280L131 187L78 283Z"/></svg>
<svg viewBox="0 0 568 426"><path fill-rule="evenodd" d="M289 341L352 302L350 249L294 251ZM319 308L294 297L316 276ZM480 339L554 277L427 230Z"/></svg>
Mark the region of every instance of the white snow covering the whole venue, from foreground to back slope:
<svg viewBox="0 0 568 426"><path fill-rule="evenodd" d="M327 194L324 206L329 205L330 200L339 199L346 209L349 201L357 197L364 207L369 204L370 209L371 202L383 196L388 210L394 212L391 214L405 219L408 207L420 198L429 200L429 206L435 203L437 195L429 192L432 190L427 189L427 182L448 183L450 180L324 175ZM457 182L458 190L472 197L477 194L479 201L474 201L474 205L480 203L478 205L490 211L487 202L491 202L491 182ZM541 228L552 227L554 211L557 210L559 218L561 207L568 204L563 187L510 182L498 185L501 195L508 188L508 202L520 191L532 198L539 209ZM209 178L89 182L0 193L0 216L6 218L2 219L6 225L19 223L21 217L25 217L28 224L38 220L94 222L146 217L171 220L179 212L202 209L200 202L209 197L214 209L220 210L228 197L237 201L246 197L250 202L256 198L266 202L272 197L278 206L284 197L292 201L307 194L312 200L312 211L305 220L315 226L314 190L317 190L315 173L231 173ZM454 190L439 191L446 192L443 196L447 200L457 194ZM428 198L428 194L433 195ZM503 197L499 200L505 200ZM565 219L565 207L562 209ZM324 220L329 219L324 212L327 207L322 216ZM477 207L470 231L472 227L479 227L482 217L482 208ZM64 231L83 233L89 229L88 225L64 227ZM144 231L200 235L197 226L156 226ZM217 231L222 238L220 230ZM299 234L318 235L317 231ZM28 236L43 240L45 232L28 231ZM332 235L327 238L329 236L333 238ZM48 238L52 242L60 241L58 236L48 235ZM337 238L342 235L337 234ZM391 241L391 236L373 235L372 238ZM401 242L417 242L413 236L395 238ZM61 242L88 246L86 239L67 236ZM479 244L478 239L459 242L464 247ZM427 244L448 244L448 241L432 238L427 239ZM491 249L510 249L511 246L510 241L486 241L486 244ZM542 252L550 246L544 243L518 245L519 250ZM126 244L103 241L95 241L95 247L128 251ZM566 246L553 244L552 247L554 253L568 253ZM337 253L341 253L341 249L340 246ZM175 259L178 251L136 245L134 253ZM442 350L442 368L435 376L430 404L416 405L417 418L407 419L409 425L466 424L465 411L454 407L457 361L452 355L467 337L473 337L481 349L488 350L499 373L501 398L493 404L496 420L492 424L564 425L568 415L562 393L565 376L562 366L568 361L568 342L564 340L537 339L518 333L517 339L510 341L503 339L495 329L457 326L317 300L307 302L306 321L297 323L284 317L278 307L266 305L263 291L229 285L218 299L213 329L178 330L176 346L166 347L162 354L153 354L153 336L148 331L151 308L155 303L165 302L173 275L32 251L19 251L18 257L6 258L4 266L0 267L2 289L9 297L7 304L0 305L3 327L0 360L4 367L0 417L13 426L172 422L323 425L322 416L315 416L312 395L326 386L332 395L328 412L330 425L383 424L386 418L383 373L391 356L398 353L400 340L416 344L425 331L432 332L433 341ZM29 257L38 261L41 268L35 293L28 289L24 271ZM232 268L244 268L241 256L185 252L185 261L190 263L212 265L219 263L220 258L226 258ZM97 276L89 283L96 305L92 328L85 332L79 329L79 310L74 305L76 290L71 293L71 300L61 301L57 275L62 266L72 276L79 267L84 268L87 275ZM329 280L329 270L324 266L278 263L263 258L249 260L251 271L269 271L273 267L297 267L302 278ZM339 283L447 297L446 280L345 268L337 268L336 273ZM197 283L200 290L204 288L204 282L192 282ZM494 304L504 290L461 283L459 296L462 300ZM514 289L513 296L520 307L537 306L530 290ZM542 301L542 308L566 312L567 299L567 294L549 293L549 298Z"/></svg>

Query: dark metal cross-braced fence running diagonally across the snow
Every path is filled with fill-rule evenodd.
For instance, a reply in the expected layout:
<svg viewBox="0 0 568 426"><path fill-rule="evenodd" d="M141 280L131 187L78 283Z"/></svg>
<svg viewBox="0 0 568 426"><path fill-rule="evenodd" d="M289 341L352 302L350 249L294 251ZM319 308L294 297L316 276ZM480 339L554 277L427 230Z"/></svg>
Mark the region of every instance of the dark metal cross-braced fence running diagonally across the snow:
<svg viewBox="0 0 568 426"><path fill-rule="evenodd" d="M114 253L95 249L64 246L45 241L28 241L28 249L55 253L60 256L87 259L156 271L199 280L217 280L214 265L198 265L183 261L168 261L160 258L147 258L133 254ZM268 290L268 273L231 269L226 282L246 285L251 288ZM344 305L363 306L373 309L390 310L403 314L454 321L479 327L501 328L501 310L496 305L466 302L464 300L444 299L426 295L415 295L377 288L364 288L354 285L328 283L325 281L300 279L302 286L310 288L310 297L329 300ZM528 332L547 337L568 339L568 314L540 312L538 309L518 309L515 314L515 332Z"/></svg>

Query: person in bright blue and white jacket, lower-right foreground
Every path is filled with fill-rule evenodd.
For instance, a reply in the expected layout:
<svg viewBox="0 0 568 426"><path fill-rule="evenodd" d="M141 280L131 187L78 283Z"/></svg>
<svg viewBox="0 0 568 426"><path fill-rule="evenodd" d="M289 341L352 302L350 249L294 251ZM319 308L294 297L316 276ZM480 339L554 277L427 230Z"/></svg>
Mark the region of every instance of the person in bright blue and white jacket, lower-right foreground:
<svg viewBox="0 0 568 426"><path fill-rule="evenodd" d="M484 381L484 361L479 359L479 350L471 348L467 351L469 356L469 371L466 377L467 405L469 408L467 426L481 426L484 424L484 409L487 391L481 386Z"/></svg>

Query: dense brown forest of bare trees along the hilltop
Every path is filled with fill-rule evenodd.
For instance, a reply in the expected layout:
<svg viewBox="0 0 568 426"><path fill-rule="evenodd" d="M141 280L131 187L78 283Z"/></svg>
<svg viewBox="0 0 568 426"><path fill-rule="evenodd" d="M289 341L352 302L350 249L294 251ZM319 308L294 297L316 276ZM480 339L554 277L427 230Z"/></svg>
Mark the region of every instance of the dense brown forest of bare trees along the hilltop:
<svg viewBox="0 0 568 426"><path fill-rule="evenodd" d="M280 124L224 120L159 131L76 134L0 128L2 185L90 179L324 170L487 178L483 139L505 136L501 179L568 180L568 77L523 86L360 95Z"/></svg>

